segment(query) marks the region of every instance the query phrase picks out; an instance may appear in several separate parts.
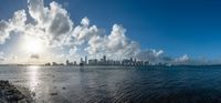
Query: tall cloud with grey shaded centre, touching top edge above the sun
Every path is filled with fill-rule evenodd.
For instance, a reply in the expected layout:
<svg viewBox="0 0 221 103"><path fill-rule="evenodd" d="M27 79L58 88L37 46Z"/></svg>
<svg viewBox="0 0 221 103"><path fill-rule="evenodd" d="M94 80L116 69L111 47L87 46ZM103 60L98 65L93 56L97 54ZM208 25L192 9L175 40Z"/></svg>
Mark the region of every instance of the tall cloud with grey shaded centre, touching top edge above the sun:
<svg viewBox="0 0 221 103"><path fill-rule="evenodd" d="M35 21L35 28L44 33L50 45L63 45L73 29L70 16L61 4L51 2L44 7L43 0L29 0L29 13Z"/></svg>

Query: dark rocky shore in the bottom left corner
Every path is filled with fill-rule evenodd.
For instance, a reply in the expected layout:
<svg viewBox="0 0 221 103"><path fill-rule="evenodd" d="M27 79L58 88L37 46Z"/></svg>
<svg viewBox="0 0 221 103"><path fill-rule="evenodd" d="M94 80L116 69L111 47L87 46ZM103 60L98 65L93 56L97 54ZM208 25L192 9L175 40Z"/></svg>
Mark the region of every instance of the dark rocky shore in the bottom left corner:
<svg viewBox="0 0 221 103"><path fill-rule="evenodd" d="M33 103L28 90L0 80L0 103Z"/></svg>

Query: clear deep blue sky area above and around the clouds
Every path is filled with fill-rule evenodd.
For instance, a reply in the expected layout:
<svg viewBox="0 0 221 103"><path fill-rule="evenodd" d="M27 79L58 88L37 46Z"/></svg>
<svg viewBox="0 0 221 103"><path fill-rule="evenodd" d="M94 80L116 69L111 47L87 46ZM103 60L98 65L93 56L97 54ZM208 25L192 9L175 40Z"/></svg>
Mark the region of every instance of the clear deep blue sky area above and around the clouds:
<svg viewBox="0 0 221 103"><path fill-rule="evenodd" d="M45 0L45 6L53 0ZM55 0L74 24L87 17L91 24L112 31L114 23L141 49L164 50L168 55L221 58L221 1L219 0ZM4 0L0 19L25 9L27 0ZM29 16L30 17L30 16Z"/></svg>

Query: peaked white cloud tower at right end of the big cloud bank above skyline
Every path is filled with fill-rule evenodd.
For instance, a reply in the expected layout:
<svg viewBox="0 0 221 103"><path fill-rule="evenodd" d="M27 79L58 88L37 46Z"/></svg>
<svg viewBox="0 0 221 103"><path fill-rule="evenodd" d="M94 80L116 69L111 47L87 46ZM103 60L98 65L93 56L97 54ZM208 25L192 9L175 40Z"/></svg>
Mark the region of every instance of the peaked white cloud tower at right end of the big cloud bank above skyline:
<svg viewBox="0 0 221 103"><path fill-rule="evenodd" d="M139 44L129 40L126 35L126 29L122 25L114 24L110 34L107 37L105 50L107 53L116 55L135 56L139 52Z"/></svg>

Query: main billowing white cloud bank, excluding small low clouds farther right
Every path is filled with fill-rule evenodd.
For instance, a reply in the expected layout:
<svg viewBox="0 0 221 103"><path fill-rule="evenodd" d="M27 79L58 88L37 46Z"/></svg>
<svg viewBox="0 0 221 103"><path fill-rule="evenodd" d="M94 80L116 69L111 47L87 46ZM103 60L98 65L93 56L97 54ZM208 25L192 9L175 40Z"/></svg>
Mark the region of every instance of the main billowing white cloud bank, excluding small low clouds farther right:
<svg viewBox="0 0 221 103"><path fill-rule="evenodd" d="M43 0L28 0L29 14L34 20L27 22L24 10L14 12L9 22L1 21L1 41L9 38L9 27L19 27L18 30L45 40L50 45L71 45L70 54L74 54L76 47L83 47L88 54L96 53L109 56L135 56L139 52L139 44L126 37L123 25L114 24L109 34L104 34L96 25L90 25L90 19L83 18L81 25L73 27L73 21L61 4L51 2L45 7ZM10 23L10 24L8 24ZM15 29L15 28L14 28ZM12 29L13 30L13 29Z"/></svg>

